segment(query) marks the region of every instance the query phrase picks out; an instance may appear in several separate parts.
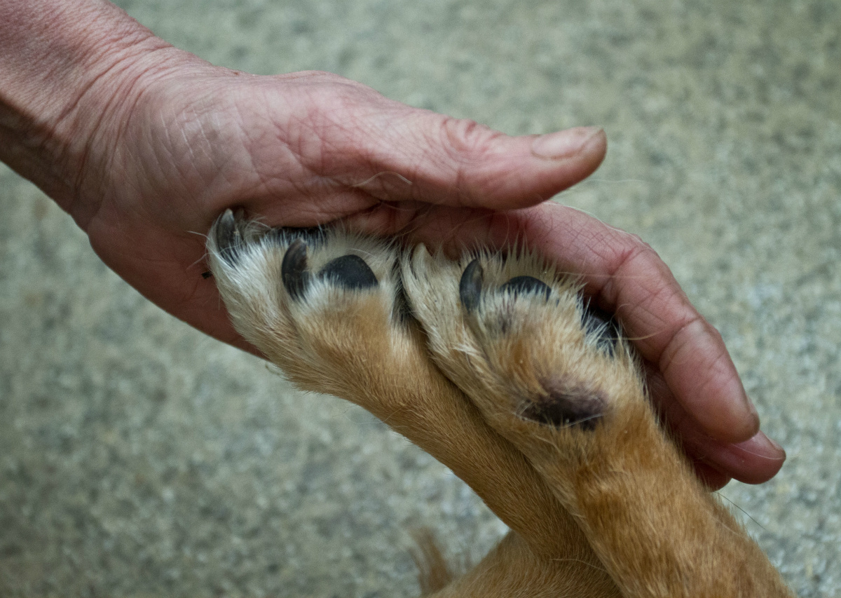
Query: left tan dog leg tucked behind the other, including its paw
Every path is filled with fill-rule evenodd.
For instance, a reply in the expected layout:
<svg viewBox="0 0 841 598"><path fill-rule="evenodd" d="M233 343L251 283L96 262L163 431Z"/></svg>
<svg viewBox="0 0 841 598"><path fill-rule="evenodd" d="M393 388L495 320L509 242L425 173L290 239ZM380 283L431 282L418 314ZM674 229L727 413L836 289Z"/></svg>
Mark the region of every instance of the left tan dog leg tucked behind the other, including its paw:
<svg viewBox="0 0 841 598"><path fill-rule="evenodd" d="M248 341L300 388L361 405L430 452L516 533L447 595L618 595L526 458L431 363L405 309L394 245L331 230L267 230L229 210L208 251ZM497 587L502 570L512 574Z"/></svg>

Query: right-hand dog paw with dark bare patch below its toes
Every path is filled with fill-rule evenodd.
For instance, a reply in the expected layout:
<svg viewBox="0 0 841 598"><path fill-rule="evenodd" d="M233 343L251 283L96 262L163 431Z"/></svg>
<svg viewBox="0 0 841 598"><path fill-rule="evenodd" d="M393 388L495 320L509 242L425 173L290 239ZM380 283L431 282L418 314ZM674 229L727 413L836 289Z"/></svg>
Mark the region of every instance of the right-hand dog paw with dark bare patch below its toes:
<svg viewBox="0 0 841 598"><path fill-rule="evenodd" d="M620 325L542 259L418 248L403 271L436 363L510 440L610 435L647 408Z"/></svg>

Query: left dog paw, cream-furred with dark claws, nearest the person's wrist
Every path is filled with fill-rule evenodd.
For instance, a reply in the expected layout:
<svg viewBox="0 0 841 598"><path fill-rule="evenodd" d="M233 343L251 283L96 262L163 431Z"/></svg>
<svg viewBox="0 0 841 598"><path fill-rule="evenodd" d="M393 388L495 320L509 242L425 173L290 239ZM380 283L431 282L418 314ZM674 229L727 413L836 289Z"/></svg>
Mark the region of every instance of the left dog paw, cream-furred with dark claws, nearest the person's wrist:
<svg viewBox="0 0 841 598"><path fill-rule="evenodd" d="M209 266L237 331L299 386L348 398L412 344L393 244L341 230L269 229L230 210ZM388 353L388 354L387 354ZM415 352L416 354L416 352Z"/></svg>

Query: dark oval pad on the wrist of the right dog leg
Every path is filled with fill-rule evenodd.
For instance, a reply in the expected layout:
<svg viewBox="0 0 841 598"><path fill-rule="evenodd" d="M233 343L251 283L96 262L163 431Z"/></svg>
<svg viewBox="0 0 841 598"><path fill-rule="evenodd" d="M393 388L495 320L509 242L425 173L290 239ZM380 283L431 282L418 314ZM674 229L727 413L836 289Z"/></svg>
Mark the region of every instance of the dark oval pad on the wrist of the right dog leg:
<svg viewBox="0 0 841 598"><path fill-rule="evenodd" d="M605 400L587 389L553 390L539 400L529 401L520 415L556 428L579 426L595 429L605 410Z"/></svg>

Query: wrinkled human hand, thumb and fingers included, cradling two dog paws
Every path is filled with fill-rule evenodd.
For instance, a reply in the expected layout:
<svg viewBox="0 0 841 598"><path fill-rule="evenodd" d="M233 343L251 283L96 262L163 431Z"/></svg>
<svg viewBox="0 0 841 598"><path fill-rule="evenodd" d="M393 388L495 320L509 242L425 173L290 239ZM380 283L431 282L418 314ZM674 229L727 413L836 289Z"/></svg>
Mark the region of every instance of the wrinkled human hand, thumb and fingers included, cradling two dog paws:
<svg viewBox="0 0 841 598"><path fill-rule="evenodd" d="M525 240L617 312L649 364L653 400L708 484L760 482L780 468L784 453L758 433L721 336L659 257L637 237L544 201L595 170L603 132L507 137L335 75L251 76L137 35L86 88L88 111L103 110L95 125L71 128L79 133L57 161L61 184L12 162L148 299L254 351L201 276L203 235L229 207L267 225L341 220L451 250ZM82 113L74 123L84 124Z"/></svg>

